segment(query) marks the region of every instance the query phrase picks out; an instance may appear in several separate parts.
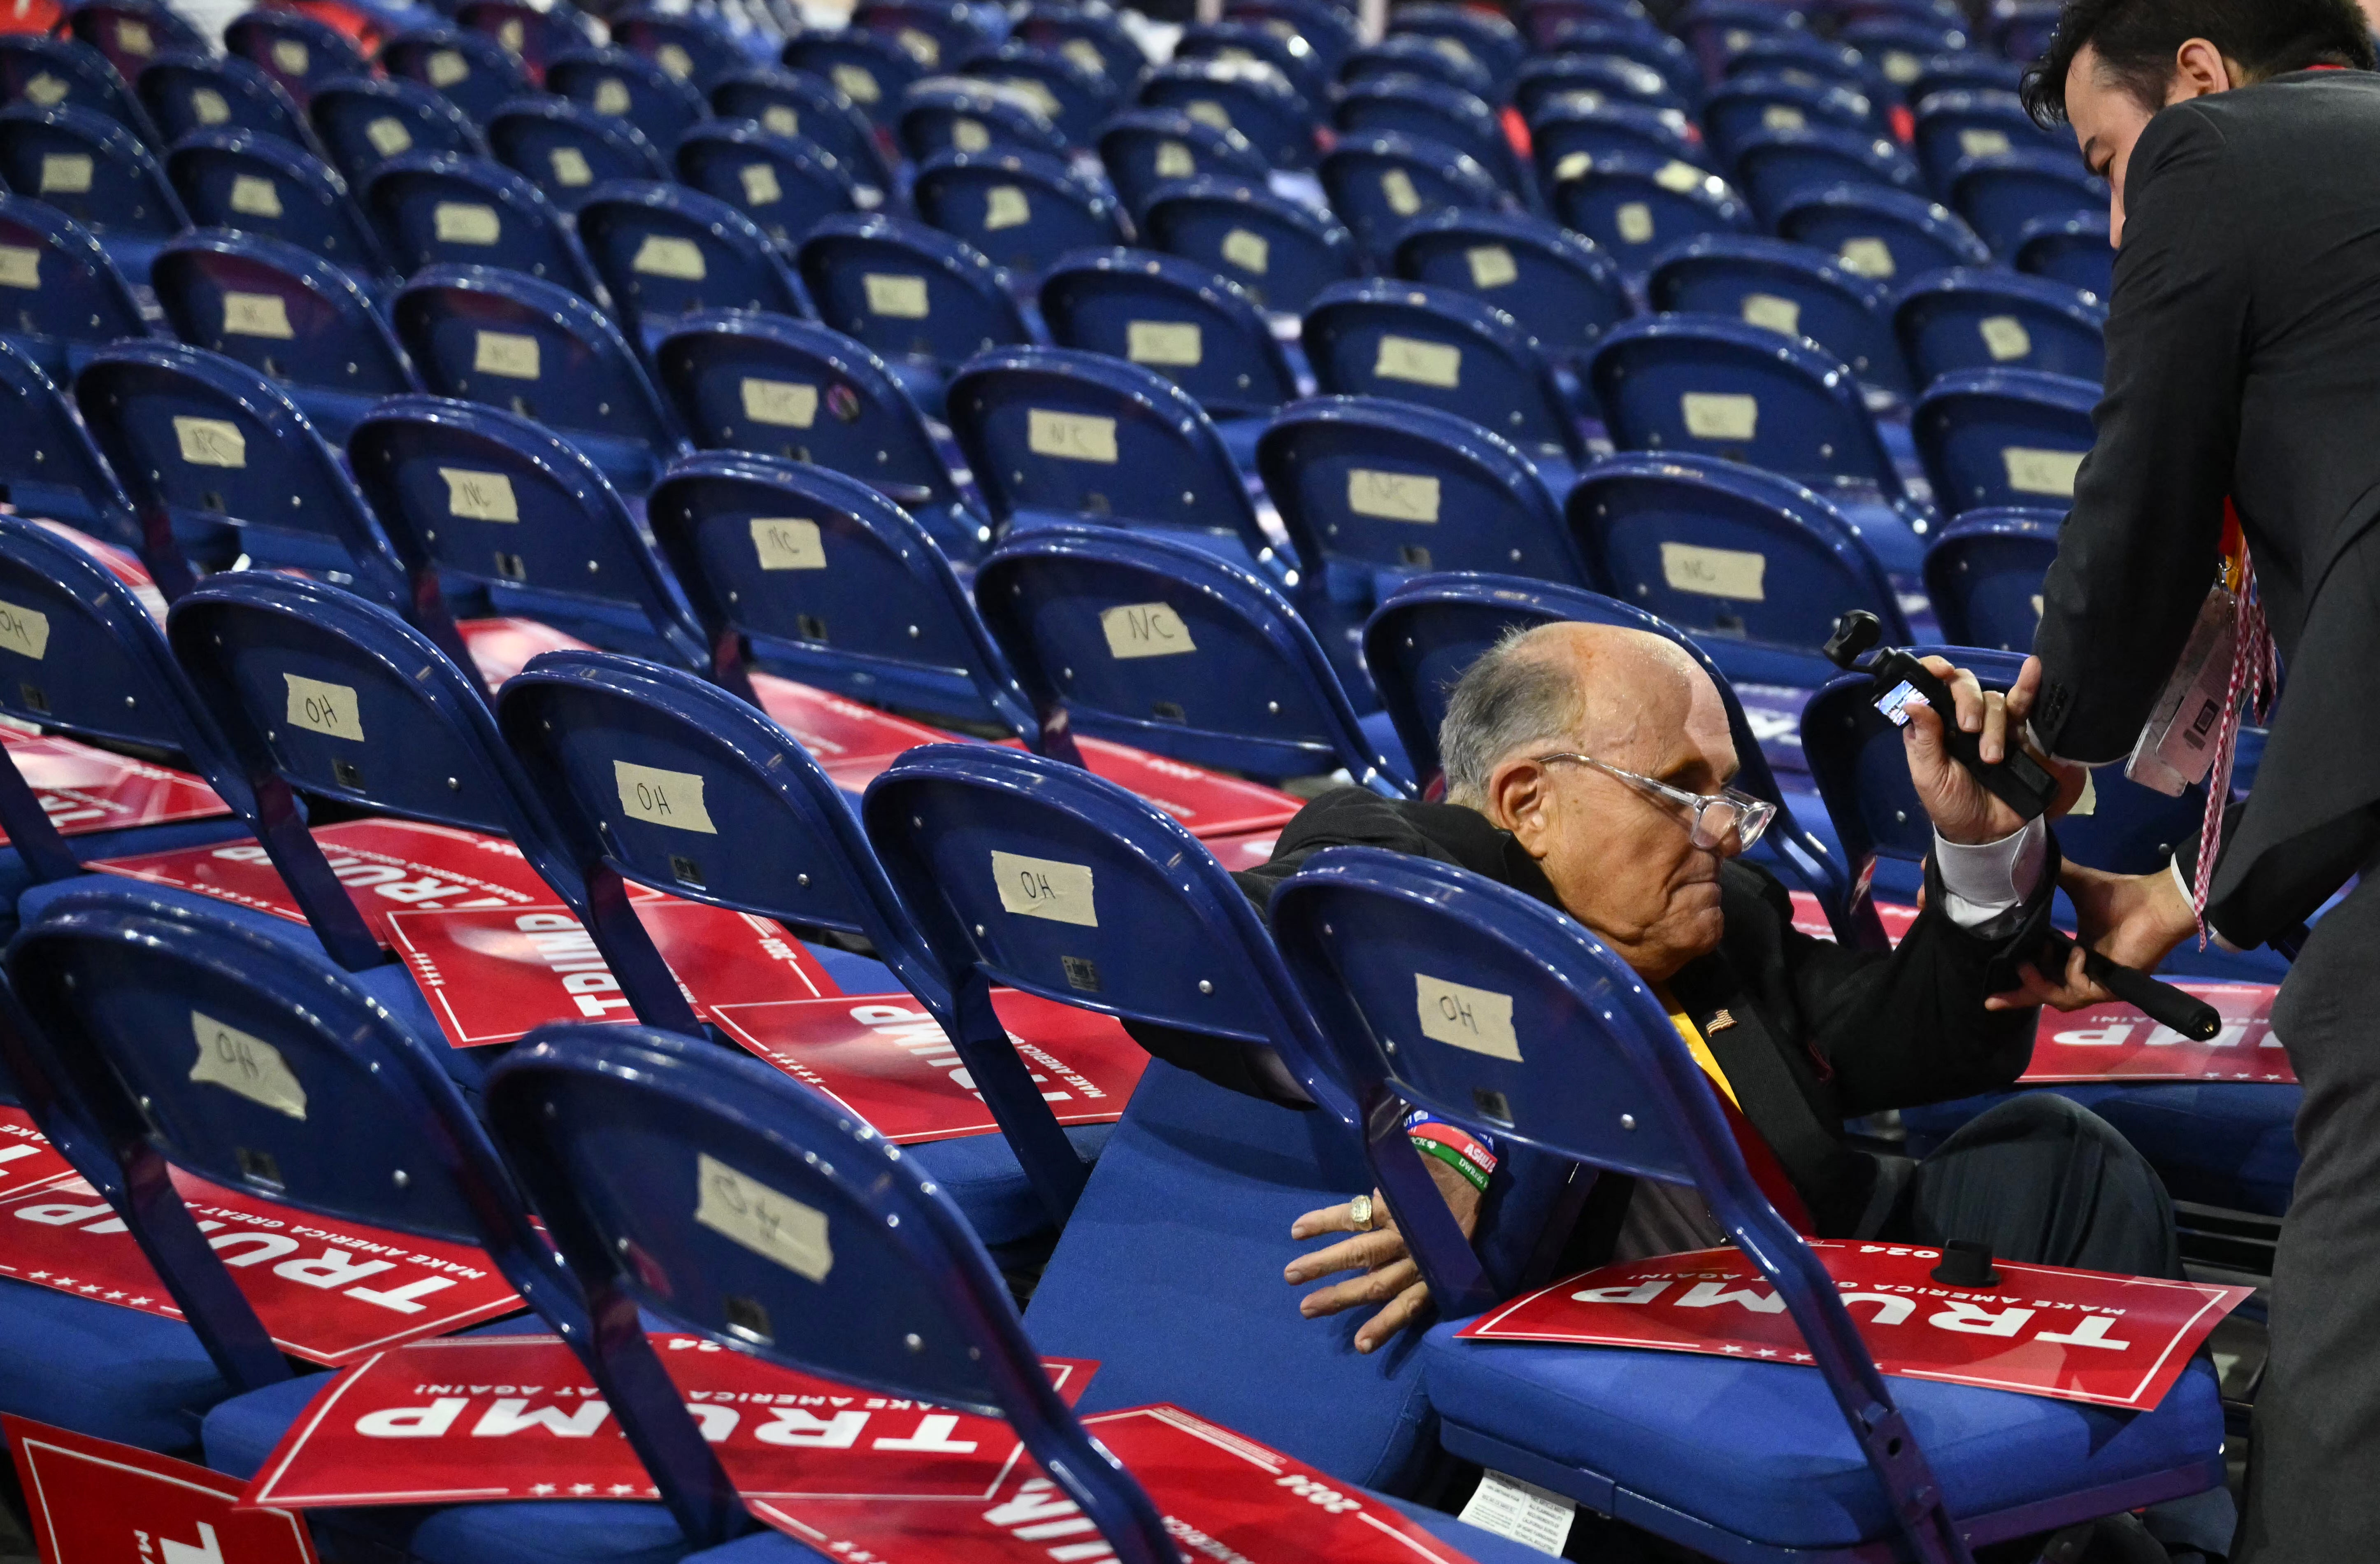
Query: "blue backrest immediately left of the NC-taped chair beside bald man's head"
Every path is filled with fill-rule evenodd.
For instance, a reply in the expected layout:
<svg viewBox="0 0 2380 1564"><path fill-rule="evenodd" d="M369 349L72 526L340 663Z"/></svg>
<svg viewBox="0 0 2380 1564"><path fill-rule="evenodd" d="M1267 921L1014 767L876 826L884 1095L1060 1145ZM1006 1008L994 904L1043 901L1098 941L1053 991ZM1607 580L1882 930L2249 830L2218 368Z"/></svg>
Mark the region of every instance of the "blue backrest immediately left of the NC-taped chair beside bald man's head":
<svg viewBox="0 0 2380 1564"><path fill-rule="evenodd" d="M645 502L733 688L743 664L909 712L990 721L1040 747L1040 724L923 524L814 462L704 452Z"/></svg>

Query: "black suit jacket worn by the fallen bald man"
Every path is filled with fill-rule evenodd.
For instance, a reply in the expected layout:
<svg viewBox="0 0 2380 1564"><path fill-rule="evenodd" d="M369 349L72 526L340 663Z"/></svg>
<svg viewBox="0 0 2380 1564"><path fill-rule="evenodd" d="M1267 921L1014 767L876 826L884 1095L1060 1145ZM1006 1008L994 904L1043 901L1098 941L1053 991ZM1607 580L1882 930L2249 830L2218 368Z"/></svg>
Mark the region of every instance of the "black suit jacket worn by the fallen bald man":
<svg viewBox="0 0 2380 1564"><path fill-rule="evenodd" d="M1349 845L1459 864L1561 905L1537 862L1485 814L1361 788L1316 797L1280 831L1269 864L1233 878L1264 912L1307 857ZM1668 990L1702 1028L1821 1235L1854 1235L1875 1183L1875 1162L1844 1143L1847 1116L2002 1090L2023 1074L2037 1012L1985 1012L1987 969L2040 938L2052 890L2044 878L2028 907L2002 919L2006 938L1980 938L1925 912L1899 950L1883 955L1809 938L1792 926L1792 900L1775 878L1742 862L1721 869L1726 936ZM1928 905L1942 905L1940 883ZM2002 924L1992 936L2004 933ZM1714 1028L1718 1012L1733 1026Z"/></svg>

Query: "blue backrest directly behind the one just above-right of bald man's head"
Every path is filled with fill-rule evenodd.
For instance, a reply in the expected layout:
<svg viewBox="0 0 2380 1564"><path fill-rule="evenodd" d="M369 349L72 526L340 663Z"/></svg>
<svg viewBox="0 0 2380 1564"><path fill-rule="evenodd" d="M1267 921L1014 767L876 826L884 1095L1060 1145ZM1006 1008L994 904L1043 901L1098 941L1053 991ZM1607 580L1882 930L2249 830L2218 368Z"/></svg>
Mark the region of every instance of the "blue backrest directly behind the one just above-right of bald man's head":
<svg viewBox="0 0 2380 1564"><path fill-rule="evenodd" d="M1902 495L1875 414L1842 359L1766 326L1671 314L1614 326L1587 367L1621 450L1723 457L1802 483Z"/></svg>

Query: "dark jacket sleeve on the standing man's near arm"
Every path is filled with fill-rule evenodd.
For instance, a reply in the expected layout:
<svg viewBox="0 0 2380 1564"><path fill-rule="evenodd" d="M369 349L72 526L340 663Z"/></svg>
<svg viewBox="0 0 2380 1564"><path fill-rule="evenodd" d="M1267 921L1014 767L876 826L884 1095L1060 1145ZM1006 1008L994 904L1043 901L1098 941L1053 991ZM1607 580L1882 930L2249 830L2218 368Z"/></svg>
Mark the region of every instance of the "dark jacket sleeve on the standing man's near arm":
<svg viewBox="0 0 2380 1564"><path fill-rule="evenodd" d="M2223 131L2190 105L2152 119L2132 152L2097 445L2033 638L2033 728L2066 759L2130 755L2213 586L2256 243L2237 179Z"/></svg>

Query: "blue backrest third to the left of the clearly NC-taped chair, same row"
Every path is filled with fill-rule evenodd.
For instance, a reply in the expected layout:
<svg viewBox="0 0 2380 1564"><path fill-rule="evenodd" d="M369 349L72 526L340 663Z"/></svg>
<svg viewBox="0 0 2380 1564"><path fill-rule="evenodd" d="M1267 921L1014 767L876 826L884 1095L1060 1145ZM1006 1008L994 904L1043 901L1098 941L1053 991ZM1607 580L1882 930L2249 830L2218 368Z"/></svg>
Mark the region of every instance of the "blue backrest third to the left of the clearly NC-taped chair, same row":
<svg viewBox="0 0 2380 1564"><path fill-rule="evenodd" d="M152 559L169 545L217 569L245 555L324 571L390 609L412 602L338 452L264 374L183 343L117 343L83 364L74 402Z"/></svg>

